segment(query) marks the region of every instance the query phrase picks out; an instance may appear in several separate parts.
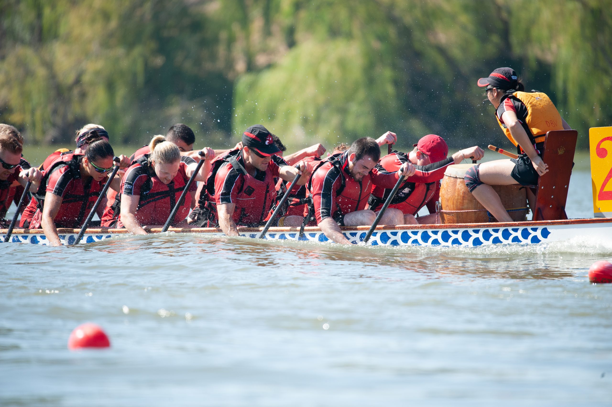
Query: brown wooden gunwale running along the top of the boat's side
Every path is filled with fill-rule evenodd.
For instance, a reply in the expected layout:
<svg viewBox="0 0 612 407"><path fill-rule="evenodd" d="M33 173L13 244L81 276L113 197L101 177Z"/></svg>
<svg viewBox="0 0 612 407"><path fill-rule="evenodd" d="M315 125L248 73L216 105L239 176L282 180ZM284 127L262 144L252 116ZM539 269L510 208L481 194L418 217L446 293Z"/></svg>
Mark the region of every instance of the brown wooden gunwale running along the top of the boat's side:
<svg viewBox="0 0 612 407"><path fill-rule="evenodd" d="M424 225L383 225L376 226L376 231L404 231L404 230L439 230L439 229L482 229L482 228L518 228L525 226L562 226L562 225L588 225L593 223L612 223L612 218L576 218L564 220L539 220L526 222L499 222L499 223L431 223ZM341 226L342 231L368 231L370 226ZM162 225L144 226L144 230L152 233L160 233ZM240 226L239 233L258 233L261 228L247 228ZM269 233L299 233L299 227L278 227L269 228ZM7 229L0 229L0 234L6 234ZM78 234L80 228L58 228L58 234ZM174 233L223 233L220 228L169 228L169 232ZM321 228L318 226L307 226L305 233L319 233ZM87 234L130 234L126 229L112 228L88 228ZM13 234L44 234L42 229L15 229Z"/></svg>

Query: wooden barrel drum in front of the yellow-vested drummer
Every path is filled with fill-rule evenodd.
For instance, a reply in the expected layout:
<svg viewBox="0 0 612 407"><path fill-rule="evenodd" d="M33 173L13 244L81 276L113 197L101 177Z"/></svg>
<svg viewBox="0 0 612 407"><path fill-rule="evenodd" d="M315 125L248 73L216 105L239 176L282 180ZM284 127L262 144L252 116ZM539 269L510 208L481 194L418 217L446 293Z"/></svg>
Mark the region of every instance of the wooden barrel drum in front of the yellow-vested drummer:
<svg viewBox="0 0 612 407"><path fill-rule="evenodd" d="M474 198L463 177L476 164L449 165L444 172L440 187L440 219L442 223L487 223L495 222L487 209ZM508 214L517 222L526 220L527 192L521 185L492 185L501 198ZM517 210L518 209L518 210Z"/></svg>

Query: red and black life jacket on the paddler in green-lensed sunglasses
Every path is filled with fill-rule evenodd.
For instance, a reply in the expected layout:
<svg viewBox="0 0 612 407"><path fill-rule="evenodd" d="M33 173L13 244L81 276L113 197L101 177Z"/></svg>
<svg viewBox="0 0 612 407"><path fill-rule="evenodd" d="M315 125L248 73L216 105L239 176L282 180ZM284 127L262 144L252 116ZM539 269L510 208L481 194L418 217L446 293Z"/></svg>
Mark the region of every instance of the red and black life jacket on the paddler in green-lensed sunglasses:
<svg viewBox="0 0 612 407"><path fill-rule="evenodd" d="M59 157L51 163L47 170L43 171L43 179L40 182L40 187L32 194L32 200L28 205L29 209L32 207L36 208L34 215L31 218L26 218L26 214L22 216L20 226L23 227L23 223L28 220L29 228L36 229L40 228L40 220L42 218L43 207L45 206L45 195L47 194L47 185L51 173L59 166L69 166L69 171L72 174L72 179L81 179L81 160L84 155L74 154L73 152L66 152L59 155ZM66 192L64 193L62 204L58 214L55 217L56 226L60 228L78 228L83 225L83 222L89 211L95 204L102 185L99 182L95 182L93 177L88 179L83 184L83 193L76 194ZM29 211L31 212L31 211Z"/></svg>

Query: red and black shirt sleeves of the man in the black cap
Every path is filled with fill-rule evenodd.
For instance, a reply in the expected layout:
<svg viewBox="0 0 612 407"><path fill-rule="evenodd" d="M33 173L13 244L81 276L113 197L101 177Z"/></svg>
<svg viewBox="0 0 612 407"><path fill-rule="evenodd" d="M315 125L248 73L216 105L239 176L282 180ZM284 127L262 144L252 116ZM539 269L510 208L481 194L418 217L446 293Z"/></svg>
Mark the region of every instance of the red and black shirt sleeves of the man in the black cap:
<svg viewBox="0 0 612 407"><path fill-rule="evenodd" d="M242 154L238 154L236 161L244 167L245 163ZM266 179L266 173L271 173L272 177L280 177L279 170L285 165L287 165L285 160L274 154L268 163L266 171L256 170L254 178L263 182ZM236 171L231 163L224 162L215 176L215 203L217 205L236 203L236 196L243 185L244 174Z"/></svg>

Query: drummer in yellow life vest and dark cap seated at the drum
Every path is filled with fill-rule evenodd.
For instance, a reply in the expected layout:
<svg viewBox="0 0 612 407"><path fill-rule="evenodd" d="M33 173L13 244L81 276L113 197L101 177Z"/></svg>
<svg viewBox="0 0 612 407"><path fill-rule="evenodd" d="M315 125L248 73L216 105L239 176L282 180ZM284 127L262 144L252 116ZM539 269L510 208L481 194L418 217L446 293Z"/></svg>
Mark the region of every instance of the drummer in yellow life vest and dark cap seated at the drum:
<svg viewBox="0 0 612 407"><path fill-rule="evenodd" d="M542 160L544 139L551 130L571 130L561 118L548 95L525 92L524 85L511 68L498 68L488 78L480 78L488 100L495 107L495 118L507 138L517 146L518 159L495 160L472 166L465 175L465 184L482 206L498 222L512 222L499 195L490 185L537 185L548 172ZM529 206L535 197L527 189Z"/></svg>

